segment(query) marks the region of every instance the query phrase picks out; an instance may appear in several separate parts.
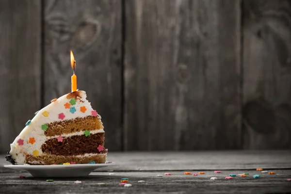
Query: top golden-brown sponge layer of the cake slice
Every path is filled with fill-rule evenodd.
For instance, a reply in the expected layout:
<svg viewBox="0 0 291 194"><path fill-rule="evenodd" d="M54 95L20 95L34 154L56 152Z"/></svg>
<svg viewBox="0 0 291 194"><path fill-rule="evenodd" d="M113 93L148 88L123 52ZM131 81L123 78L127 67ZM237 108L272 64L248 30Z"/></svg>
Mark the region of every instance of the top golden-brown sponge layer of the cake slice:
<svg viewBox="0 0 291 194"><path fill-rule="evenodd" d="M103 129L103 123L97 116L77 117L71 120L56 121L48 123L48 129L45 131L46 136L55 136L68 133L74 133L85 130Z"/></svg>

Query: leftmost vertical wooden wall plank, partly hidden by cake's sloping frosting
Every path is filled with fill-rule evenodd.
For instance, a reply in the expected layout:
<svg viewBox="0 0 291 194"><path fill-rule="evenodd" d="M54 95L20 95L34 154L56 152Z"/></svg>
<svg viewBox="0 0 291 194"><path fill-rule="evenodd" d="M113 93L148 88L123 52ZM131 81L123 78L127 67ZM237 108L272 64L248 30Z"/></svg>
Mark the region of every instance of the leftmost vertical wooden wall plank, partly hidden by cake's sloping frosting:
<svg viewBox="0 0 291 194"><path fill-rule="evenodd" d="M40 108L41 1L0 0L0 153Z"/></svg>

